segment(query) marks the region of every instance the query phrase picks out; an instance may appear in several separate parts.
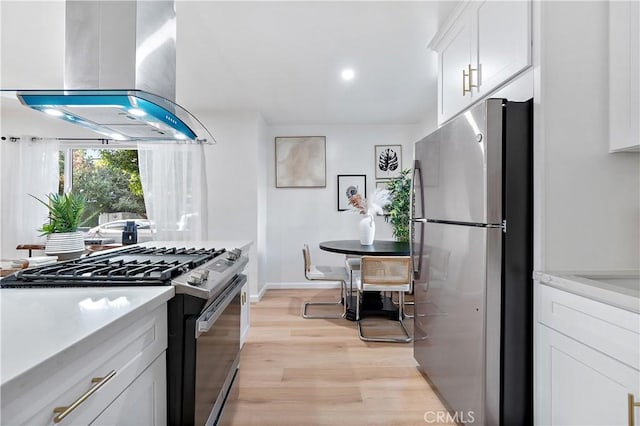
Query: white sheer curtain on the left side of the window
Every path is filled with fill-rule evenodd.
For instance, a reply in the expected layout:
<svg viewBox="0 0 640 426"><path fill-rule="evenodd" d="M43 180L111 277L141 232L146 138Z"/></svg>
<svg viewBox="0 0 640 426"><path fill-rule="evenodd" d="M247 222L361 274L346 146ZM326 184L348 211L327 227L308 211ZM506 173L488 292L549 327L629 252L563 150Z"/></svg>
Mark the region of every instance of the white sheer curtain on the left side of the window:
<svg viewBox="0 0 640 426"><path fill-rule="evenodd" d="M27 256L16 250L18 244L44 244L38 229L47 220L47 208L29 194L46 199L58 192L59 151L60 144L51 139L21 136L16 142L0 142L0 259Z"/></svg>

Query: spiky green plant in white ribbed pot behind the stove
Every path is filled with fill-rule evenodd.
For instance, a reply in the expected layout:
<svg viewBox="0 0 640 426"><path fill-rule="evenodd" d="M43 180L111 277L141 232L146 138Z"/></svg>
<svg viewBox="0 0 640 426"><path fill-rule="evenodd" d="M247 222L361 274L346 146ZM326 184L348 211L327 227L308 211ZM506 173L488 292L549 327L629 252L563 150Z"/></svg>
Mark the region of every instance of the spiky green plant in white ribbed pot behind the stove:
<svg viewBox="0 0 640 426"><path fill-rule="evenodd" d="M29 194L31 195L31 194ZM86 200L81 194L51 193L45 202L33 195L49 210L49 222L39 229L47 236L44 252L59 260L73 259L84 253L84 234L78 231Z"/></svg>

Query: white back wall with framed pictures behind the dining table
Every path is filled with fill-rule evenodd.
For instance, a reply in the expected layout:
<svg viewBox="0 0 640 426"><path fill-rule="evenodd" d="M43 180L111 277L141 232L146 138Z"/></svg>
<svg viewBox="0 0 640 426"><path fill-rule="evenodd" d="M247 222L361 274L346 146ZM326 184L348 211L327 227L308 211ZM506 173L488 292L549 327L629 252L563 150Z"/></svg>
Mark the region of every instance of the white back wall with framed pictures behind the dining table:
<svg viewBox="0 0 640 426"><path fill-rule="evenodd" d="M402 145L402 168L411 168L413 142L421 125L296 125L270 127L267 176L267 283L301 283L302 246L309 244L312 261L343 265L342 255L323 252L321 241L358 239L360 216L337 211L337 175L366 174L367 195L375 189L374 146ZM276 136L326 136L326 188L276 188ZM393 239L392 228L376 218L376 239Z"/></svg>

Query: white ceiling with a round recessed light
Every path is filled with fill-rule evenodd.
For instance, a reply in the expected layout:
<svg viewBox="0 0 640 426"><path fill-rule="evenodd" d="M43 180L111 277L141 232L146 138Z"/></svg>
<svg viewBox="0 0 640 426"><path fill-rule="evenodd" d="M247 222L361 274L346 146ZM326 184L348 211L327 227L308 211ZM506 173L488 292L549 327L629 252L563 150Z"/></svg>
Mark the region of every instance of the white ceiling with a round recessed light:
<svg viewBox="0 0 640 426"><path fill-rule="evenodd" d="M178 1L177 101L270 124L424 121L436 108L427 45L455 4Z"/></svg>

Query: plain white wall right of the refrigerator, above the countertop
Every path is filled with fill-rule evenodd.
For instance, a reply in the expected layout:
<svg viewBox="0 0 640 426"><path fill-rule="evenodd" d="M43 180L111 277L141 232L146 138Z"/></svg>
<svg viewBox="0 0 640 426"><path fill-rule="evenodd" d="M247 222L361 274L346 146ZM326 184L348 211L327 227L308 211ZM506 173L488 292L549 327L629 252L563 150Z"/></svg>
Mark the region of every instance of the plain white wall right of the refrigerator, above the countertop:
<svg viewBox="0 0 640 426"><path fill-rule="evenodd" d="M608 153L608 5L539 6L536 268L638 269L640 157Z"/></svg>

